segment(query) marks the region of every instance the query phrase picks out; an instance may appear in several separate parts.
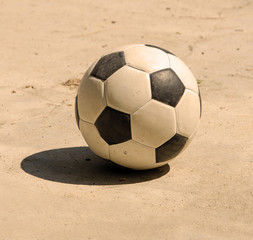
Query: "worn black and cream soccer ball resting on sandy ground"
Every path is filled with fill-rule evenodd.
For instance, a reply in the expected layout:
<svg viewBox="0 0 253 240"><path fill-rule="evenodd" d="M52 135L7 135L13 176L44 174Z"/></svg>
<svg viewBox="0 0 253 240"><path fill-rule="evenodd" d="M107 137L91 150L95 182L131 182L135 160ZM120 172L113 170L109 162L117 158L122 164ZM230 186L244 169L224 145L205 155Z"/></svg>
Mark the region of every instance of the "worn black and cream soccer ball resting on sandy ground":
<svg viewBox="0 0 253 240"><path fill-rule="evenodd" d="M95 154L142 170L165 165L186 148L201 117L201 98L178 57L138 44L114 49L91 65L75 112Z"/></svg>

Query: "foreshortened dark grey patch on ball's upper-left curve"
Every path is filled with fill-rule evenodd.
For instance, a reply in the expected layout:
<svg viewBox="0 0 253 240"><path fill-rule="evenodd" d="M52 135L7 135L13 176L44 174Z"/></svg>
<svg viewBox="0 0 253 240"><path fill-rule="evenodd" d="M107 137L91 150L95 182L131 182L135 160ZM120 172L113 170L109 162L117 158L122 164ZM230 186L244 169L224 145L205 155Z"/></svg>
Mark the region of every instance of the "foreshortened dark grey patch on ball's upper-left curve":
<svg viewBox="0 0 253 240"><path fill-rule="evenodd" d="M90 75L105 81L125 64L124 52L111 53L100 58Z"/></svg>

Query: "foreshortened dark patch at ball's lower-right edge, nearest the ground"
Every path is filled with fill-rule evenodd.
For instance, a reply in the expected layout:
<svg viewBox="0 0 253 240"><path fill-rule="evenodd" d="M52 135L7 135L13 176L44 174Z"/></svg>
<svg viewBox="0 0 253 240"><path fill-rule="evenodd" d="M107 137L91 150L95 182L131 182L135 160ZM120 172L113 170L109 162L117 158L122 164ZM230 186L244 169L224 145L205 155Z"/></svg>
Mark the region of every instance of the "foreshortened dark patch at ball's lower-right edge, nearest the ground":
<svg viewBox="0 0 253 240"><path fill-rule="evenodd" d="M187 140L187 137L176 133L168 142L156 148L156 162L165 162L176 157L184 147Z"/></svg>

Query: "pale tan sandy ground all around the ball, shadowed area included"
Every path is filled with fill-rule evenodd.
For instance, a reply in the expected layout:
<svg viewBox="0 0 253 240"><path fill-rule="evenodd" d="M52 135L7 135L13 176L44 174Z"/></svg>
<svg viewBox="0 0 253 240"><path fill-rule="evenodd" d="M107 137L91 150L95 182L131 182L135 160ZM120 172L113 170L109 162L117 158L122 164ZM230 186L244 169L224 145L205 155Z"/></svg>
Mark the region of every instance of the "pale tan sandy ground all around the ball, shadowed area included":
<svg viewBox="0 0 253 240"><path fill-rule="evenodd" d="M253 239L250 0L0 1L0 240ZM85 146L76 86L109 48L164 47L200 80L189 148L148 172Z"/></svg>

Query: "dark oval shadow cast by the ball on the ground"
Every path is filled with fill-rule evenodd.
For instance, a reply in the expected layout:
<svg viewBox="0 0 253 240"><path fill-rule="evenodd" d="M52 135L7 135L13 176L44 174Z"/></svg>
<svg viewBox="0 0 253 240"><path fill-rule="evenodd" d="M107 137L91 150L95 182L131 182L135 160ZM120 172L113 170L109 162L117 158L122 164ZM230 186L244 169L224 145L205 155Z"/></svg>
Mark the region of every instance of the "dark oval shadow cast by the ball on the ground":
<svg viewBox="0 0 253 240"><path fill-rule="evenodd" d="M33 176L82 185L119 185L150 181L169 172L169 165L152 170L121 168L96 156L88 147L59 148L35 153L21 162Z"/></svg>

